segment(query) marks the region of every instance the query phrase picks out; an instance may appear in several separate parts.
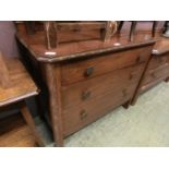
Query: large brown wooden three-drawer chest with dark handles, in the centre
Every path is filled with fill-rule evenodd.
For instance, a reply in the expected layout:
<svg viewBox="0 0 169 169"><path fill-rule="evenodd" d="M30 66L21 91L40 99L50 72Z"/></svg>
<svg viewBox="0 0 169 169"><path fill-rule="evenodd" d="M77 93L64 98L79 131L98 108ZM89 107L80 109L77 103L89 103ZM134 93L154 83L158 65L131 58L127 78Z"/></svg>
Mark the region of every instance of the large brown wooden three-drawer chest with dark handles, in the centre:
<svg viewBox="0 0 169 169"><path fill-rule="evenodd" d="M64 137L116 107L128 106L133 98L155 40L129 43L123 38L118 47L113 46L116 40L72 43L47 51L17 34L23 60L31 63L41 93L44 86L47 88L43 99L47 100L58 146L63 145Z"/></svg>

